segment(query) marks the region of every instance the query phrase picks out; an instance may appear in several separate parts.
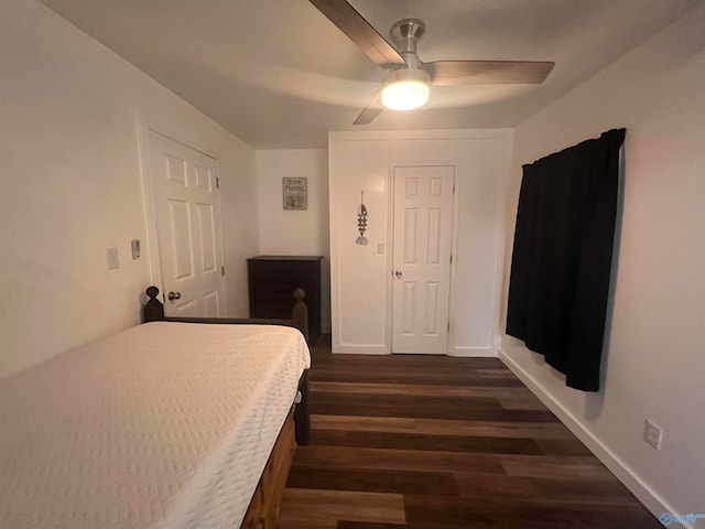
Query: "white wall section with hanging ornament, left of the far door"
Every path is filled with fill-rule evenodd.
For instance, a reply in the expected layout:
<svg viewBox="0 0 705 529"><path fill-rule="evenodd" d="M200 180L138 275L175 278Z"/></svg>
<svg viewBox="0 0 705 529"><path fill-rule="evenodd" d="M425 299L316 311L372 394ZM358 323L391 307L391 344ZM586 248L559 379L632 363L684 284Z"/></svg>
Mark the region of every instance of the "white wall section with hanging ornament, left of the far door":
<svg viewBox="0 0 705 529"><path fill-rule="evenodd" d="M334 353L389 353L387 345L388 142L330 134L330 319ZM359 136L359 134L356 134ZM360 192L367 246L356 245Z"/></svg>

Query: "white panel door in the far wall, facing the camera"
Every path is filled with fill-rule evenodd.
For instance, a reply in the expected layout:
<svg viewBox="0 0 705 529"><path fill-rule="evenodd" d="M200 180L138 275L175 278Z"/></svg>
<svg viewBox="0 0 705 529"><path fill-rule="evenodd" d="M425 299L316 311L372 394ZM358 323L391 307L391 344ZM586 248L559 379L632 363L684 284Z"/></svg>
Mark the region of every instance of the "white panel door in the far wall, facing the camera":
<svg viewBox="0 0 705 529"><path fill-rule="evenodd" d="M394 169L392 353L447 353L454 171Z"/></svg>

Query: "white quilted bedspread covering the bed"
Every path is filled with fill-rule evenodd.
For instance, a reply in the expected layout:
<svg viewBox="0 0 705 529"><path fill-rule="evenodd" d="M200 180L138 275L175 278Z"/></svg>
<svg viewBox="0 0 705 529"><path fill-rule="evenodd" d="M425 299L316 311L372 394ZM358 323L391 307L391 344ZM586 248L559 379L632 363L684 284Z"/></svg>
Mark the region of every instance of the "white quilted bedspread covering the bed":
<svg viewBox="0 0 705 529"><path fill-rule="evenodd" d="M239 527L308 366L293 328L160 322L0 381L0 527Z"/></svg>

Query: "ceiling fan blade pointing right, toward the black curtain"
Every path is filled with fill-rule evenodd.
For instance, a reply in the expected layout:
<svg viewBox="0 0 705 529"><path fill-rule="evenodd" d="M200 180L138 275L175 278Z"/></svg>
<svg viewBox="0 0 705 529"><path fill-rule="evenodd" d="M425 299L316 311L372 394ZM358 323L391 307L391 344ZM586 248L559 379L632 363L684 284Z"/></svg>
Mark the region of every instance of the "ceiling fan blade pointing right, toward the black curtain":
<svg viewBox="0 0 705 529"><path fill-rule="evenodd" d="M531 85L543 83L555 63L532 61L436 61L424 63L434 85Z"/></svg>

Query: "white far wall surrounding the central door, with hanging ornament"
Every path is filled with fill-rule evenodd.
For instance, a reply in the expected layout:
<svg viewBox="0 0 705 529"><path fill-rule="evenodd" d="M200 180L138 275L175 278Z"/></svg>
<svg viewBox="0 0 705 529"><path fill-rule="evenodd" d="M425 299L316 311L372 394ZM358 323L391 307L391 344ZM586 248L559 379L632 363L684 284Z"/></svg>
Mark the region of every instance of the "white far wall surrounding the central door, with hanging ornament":
<svg viewBox="0 0 705 529"><path fill-rule="evenodd" d="M447 353L495 355L505 236L500 196L511 131L334 132L329 149L334 352L391 352L393 169L452 165L456 195ZM368 246L355 245L361 190L369 212Z"/></svg>

